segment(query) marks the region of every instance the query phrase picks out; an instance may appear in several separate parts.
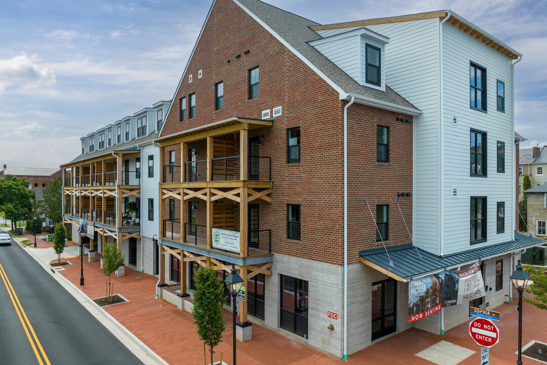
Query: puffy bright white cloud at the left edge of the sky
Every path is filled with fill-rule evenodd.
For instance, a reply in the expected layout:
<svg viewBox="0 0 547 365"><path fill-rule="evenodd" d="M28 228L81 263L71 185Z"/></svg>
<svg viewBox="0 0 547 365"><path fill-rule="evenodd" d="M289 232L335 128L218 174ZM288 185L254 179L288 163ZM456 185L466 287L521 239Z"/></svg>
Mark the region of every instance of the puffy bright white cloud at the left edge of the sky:
<svg viewBox="0 0 547 365"><path fill-rule="evenodd" d="M26 53L13 59L0 59L0 95L4 94L5 88L13 85L22 88L53 86L55 74L50 68L37 65L34 62L36 59L35 55L29 58Z"/></svg>

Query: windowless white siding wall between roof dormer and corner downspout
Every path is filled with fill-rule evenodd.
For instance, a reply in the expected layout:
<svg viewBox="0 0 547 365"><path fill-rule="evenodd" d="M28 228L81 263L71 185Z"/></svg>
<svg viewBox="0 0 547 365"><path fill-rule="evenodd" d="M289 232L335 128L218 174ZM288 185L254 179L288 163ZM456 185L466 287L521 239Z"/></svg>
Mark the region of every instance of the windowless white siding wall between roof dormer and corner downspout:
<svg viewBox="0 0 547 365"><path fill-rule="evenodd" d="M414 243L439 251L438 19L368 26L389 37L386 84L423 111L414 118Z"/></svg>

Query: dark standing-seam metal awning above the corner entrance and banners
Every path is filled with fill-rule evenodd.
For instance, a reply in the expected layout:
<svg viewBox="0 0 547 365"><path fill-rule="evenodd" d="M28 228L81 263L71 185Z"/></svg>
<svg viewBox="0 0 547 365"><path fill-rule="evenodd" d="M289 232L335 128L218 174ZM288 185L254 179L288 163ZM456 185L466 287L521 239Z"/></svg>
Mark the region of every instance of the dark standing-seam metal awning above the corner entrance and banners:
<svg viewBox="0 0 547 365"><path fill-rule="evenodd" d="M487 259L543 245L545 242L538 237L515 231L514 241L453 253L443 257L424 251L414 245L401 245L387 247L387 253L385 248L359 251L359 260L365 265L393 277L393 279L406 282L412 278L417 279L444 269L472 264L479 259ZM393 266L389 265L390 258Z"/></svg>

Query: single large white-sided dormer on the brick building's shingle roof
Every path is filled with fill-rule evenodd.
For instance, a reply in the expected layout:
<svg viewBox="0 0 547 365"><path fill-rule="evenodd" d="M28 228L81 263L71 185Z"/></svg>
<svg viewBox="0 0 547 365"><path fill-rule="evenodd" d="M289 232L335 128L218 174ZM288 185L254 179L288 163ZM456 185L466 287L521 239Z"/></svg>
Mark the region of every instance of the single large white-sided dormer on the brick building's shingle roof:
<svg viewBox="0 0 547 365"><path fill-rule="evenodd" d="M365 27L323 33L309 44L332 61L359 85L386 90L385 45L389 38ZM321 32L318 32L321 34ZM323 34L321 34L323 36Z"/></svg>

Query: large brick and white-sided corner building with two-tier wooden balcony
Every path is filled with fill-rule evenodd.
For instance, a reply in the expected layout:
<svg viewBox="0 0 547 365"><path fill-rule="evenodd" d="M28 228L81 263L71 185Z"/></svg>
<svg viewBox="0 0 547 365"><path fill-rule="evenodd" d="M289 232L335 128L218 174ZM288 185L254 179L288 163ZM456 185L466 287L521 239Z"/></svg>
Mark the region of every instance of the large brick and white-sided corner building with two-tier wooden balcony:
<svg viewBox="0 0 547 365"><path fill-rule="evenodd" d="M253 322L336 357L504 303L544 242L505 214L520 56L450 10L319 25L213 1L155 140L160 296L182 308L193 269L235 263L238 337ZM485 296L409 323L409 281L478 260Z"/></svg>

